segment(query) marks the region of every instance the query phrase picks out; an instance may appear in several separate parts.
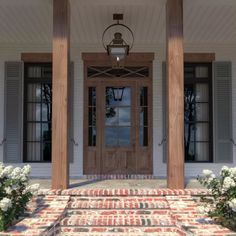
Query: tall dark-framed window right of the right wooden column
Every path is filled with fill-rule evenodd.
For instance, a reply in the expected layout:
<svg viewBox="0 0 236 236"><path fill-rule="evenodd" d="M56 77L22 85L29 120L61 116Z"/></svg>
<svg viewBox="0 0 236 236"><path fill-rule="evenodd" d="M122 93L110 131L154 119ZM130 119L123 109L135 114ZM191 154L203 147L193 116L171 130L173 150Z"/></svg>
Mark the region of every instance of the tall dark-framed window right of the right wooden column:
<svg viewBox="0 0 236 236"><path fill-rule="evenodd" d="M212 161L211 65L185 64L185 160Z"/></svg>

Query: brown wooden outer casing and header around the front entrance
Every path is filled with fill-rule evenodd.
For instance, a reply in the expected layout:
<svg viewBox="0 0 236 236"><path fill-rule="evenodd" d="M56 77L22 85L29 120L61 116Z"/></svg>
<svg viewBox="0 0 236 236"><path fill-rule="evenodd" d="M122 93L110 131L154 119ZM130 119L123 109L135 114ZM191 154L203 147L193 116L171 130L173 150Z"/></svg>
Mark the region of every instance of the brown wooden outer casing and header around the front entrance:
<svg viewBox="0 0 236 236"><path fill-rule="evenodd" d="M89 66L112 66L111 58L106 53L82 53L82 59L84 64L84 101L83 101L83 174L84 175L102 175L101 173L101 155L99 157L99 162L95 165L98 166L99 171L94 170L93 173L90 173L87 171L87 162L86 155L88 154L88 121L87 121L87 115L88 115L88 87L94 87L95 84L98 83L98 80L100 80L101 83L104 81L107 81L107 78L93 78L89 79L87 74L87 68ZM149 92L149 142L150 145L148 147L148 151L150 152L150 171L147 173L148 175L153 174L153 60L154 60L154 53L131 53L126 59L125 59L125 66L146 66L149 69L149 76L148 76L148 87L150 87ZM147 79L147 77L145 77ZM111 79L111 78L110 78ZM126 81L125 78L119 78L120 81ZM135 78L129 78L130 81L137 81ZM141 81L142 79L139 78ZM94 83L93 81L96 81ZM98 104L96 104L98 106ZM99 114L98 114L99 115ZM101 140L101 137L99 138ZM98 140L98 139L97 139ZM97 144L98 145L98 144ZM97 148L97 147L95 147ZM145 174L145 173L144 173ZM114 174L115 175L115 174Z"/></svg>

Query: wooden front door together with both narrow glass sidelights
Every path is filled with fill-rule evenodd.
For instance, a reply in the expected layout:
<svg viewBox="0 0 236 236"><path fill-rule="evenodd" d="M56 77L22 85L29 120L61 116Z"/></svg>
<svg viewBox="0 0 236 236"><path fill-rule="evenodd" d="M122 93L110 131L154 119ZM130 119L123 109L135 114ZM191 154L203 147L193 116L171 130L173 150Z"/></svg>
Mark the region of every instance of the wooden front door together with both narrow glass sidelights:
<svg viewBox="0 0 236 236"><path fill-rule="evenodd" d="M87 68L84 174L152 174L152 82L147 71Z"/></svg>

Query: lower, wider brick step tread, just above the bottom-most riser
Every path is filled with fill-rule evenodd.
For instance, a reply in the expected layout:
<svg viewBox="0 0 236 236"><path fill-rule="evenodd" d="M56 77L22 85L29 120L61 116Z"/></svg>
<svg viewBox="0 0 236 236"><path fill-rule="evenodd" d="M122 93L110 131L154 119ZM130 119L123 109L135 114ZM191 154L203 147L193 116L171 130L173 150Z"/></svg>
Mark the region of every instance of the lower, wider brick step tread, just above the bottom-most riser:
<svg viewBox="0 0 236 236"><path fill-rule="evenodd" d="M175 226L175 220L168 215L71 215L61 226Z"/></svg>

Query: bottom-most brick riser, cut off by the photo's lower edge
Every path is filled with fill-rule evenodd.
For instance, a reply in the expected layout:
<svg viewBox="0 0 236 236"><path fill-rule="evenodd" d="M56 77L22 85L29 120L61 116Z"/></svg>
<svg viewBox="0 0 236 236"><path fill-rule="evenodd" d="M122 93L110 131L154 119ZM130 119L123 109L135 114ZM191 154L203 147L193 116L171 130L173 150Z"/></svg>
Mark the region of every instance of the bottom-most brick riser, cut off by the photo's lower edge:
<svg viewBox="0 0 236 236"><path fill-rule="evenodd" d="M175 226L168 227L61 227L61 235L75 236L75 235L129 235L129 236L143 236L143 235L171 235L171 236L185 236L182 230Z"/></svg>

